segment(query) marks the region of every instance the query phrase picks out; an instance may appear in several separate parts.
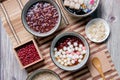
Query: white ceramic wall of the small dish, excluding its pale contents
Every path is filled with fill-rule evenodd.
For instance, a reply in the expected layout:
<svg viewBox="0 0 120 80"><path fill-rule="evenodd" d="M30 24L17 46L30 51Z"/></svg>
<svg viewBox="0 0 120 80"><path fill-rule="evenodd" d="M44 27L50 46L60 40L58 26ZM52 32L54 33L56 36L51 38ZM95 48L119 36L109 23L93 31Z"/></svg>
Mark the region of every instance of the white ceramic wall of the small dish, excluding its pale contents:
<svg viewBox="0 0 120 80"><path fill-rule="evenodd" d="M99 40L99 41L91 39L89 34L88 34L88 32L87 32L88 27L91 27L91 25L93 25L93 23L97 23L98 21L103 22L103 24L105 25L105 30L106 30L106 32L105 32L106 37L104 39L102 39L102 40ZM87 35L89 40L91 40L91 41L93 41L95 43L102 43L102 42L104 42L108 38L108 36L110 34L110 28L109 28L108 23L104 19L96 18L96 19L93 19L90 22L88 22L88 24L85 27L85 33L86 33L86 35Z"/></svg>

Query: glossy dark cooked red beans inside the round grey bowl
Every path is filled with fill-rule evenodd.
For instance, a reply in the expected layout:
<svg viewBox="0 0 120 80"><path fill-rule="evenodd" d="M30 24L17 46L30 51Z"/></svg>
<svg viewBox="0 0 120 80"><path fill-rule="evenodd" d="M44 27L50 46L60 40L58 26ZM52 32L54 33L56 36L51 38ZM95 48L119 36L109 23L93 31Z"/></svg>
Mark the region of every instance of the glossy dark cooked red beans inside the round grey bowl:
<svg viewBox="0 0 120 80"><path fill-rule="evenodd" d="M57 9L47 2L38 2L34 4L29 8L26 15L28 26L40 33L52 30L57 24L58 18Z"/></svg>

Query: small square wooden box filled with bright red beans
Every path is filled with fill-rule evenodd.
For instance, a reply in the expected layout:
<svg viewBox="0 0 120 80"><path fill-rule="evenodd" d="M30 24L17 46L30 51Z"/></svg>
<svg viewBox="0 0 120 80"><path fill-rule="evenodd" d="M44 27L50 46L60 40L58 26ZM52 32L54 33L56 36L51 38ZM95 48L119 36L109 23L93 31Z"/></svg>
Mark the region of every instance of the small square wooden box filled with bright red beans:
<svg viewBox="0 0 120 80"><path fill-rule="evenodd" d="M36 42L32 39L14 48L22 68L27 68L43 60Z"/></svg>

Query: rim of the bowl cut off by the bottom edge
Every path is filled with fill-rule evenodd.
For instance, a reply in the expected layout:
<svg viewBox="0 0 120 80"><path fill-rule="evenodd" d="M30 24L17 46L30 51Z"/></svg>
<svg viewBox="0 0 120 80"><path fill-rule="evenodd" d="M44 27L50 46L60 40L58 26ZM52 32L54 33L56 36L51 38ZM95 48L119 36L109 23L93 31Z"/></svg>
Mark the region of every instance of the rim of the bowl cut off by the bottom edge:
<svg viewBox="0 0 120 80"><path fill-rule="evenodd" d="M38 69L38 70L30 73L30 74L27 76L26 80L32 80L32 78L33 78L35 75L37 75L37 74L39 74L39 73L42 73L42 72L51 73L51 74L53 74L55 77L57 77L58 80L61 80L60 76L59 76L56 72L54 72L53 70L50 70L50 69Z"/></svg>

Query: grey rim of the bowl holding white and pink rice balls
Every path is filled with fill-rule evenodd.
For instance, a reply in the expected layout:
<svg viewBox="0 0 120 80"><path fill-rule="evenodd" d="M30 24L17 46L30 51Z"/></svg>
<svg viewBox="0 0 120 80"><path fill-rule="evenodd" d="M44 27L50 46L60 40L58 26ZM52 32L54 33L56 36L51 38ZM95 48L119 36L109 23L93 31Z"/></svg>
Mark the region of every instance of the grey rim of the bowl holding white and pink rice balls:
<svg viewBox="0 0 120 80"><path fill-rule="evenodd" d="M83 43L84 43L84 45L88 48L88 50L87 50L87 55L85 55L84 61L82 61L80 64L78 64L78 65L76 65L76 66L72 66L72 67L65 67L65 66L59 64L57 61L55 61L54 53L53 53L53 49L54 49L54 46L55 46L56 42L57 42L59 39L61 39L62 37L68 36L68 35L76 36L76 37L80 38L82 41L84 40ZM87 61L88 61L88 59L89 59L89 56L90 56L89 44L88 44L87 40L84 38L84 36L82 36L82 35L79 34L78 32L64 32L64 33L62 33L62 34L59 34L58 36L56 36L56 37L54 38L54 40L52 41L51 47L50 47L50 57L51 57L53 63L54 63L57 67L59 67L59 68L62 69L62 70L65 70L65 71L77 71L77 70L81 69L81 68L87 63Z"/></svg>

